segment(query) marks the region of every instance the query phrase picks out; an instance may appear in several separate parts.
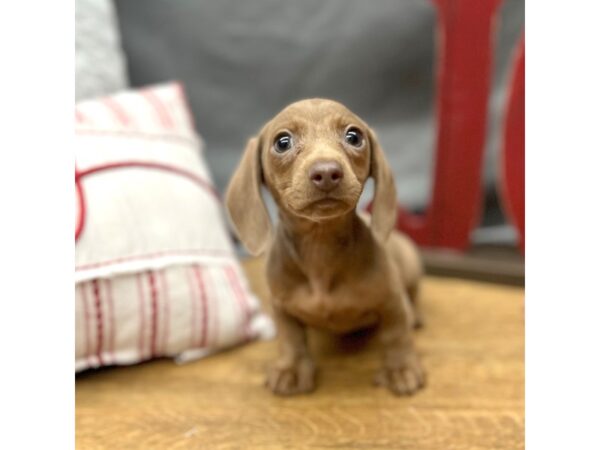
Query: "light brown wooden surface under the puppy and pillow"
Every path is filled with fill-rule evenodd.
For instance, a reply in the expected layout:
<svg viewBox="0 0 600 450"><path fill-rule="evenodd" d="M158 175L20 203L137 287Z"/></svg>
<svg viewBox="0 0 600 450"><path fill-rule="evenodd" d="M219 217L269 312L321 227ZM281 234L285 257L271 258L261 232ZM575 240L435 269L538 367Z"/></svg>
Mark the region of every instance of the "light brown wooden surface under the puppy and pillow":
<svg viewBox="0 0 600 450"><path fill-rule="evenodd" d="M264 297L260 260L246 269ZM318 390L262 386L273 342L176 366L160 360L76 381L79 449L519 449L524 447L523 289L428 278L417 346L426 390L371 386L374 340L312 335Z"/></svg>

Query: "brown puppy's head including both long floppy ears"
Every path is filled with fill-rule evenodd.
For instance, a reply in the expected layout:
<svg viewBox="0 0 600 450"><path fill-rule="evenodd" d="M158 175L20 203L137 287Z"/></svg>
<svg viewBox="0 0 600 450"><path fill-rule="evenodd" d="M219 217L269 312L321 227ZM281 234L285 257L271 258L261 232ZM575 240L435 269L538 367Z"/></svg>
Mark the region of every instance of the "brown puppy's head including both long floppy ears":
<svg viewBox="0 0 600 450"><path fill-rule="evenodd" d="M271 236L261 184L287 215L322 222L356 208L369 176L375 180L371 226L385 240L396 218L396 192L375 135L340 103L302 100L248 141L226 204L240 239L259 254Z"/></svg>

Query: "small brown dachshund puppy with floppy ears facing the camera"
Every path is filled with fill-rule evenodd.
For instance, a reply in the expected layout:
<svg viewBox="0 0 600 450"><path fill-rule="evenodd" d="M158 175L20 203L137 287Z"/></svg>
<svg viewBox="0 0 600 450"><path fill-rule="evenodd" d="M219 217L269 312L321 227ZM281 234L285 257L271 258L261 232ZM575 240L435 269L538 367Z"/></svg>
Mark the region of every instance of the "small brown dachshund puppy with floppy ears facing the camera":
<svg viewBox="0 0 600 450"><path fill-rule="evenodd" d="M370 220L356 211L368 177L375 181ZM262 185L278 206L275 230ZM424 386L411 337L422 264L413 243L392 232L394 179L365 122L331 100L289 105L248 141L226 205L248 250L268 252L279 357L266 384L275 394L315 387L306 326L348 333L378 325L383 363L375 383L398 395Z"/></svg>

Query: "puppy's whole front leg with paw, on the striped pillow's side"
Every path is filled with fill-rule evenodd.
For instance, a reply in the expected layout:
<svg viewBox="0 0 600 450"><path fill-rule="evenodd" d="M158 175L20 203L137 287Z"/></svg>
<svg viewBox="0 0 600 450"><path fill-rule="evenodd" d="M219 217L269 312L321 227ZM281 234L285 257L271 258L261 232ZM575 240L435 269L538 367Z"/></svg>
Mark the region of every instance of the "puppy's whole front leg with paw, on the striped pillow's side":
<svg viewBox="0 0 600 450"><path fill-rule="evenodd" d="M315 365L308 353L306 330L297 319L273 307L279 357L267 374L267 386L278 395L310 392L315 388Z"/></svg>

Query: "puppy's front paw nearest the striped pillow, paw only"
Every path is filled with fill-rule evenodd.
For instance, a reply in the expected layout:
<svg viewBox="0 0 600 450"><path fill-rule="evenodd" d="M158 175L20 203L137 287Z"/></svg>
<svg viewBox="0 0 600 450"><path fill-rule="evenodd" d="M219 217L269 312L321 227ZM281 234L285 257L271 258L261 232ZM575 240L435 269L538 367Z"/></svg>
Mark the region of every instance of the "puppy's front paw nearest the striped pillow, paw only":
<svg viewBox="0 0 600 450"><path fill-rule="evenodd" d="M267 373L266 386L277 395L296 395L315 388L315 365L310 358L294 363L276 361Z"/></svg>

